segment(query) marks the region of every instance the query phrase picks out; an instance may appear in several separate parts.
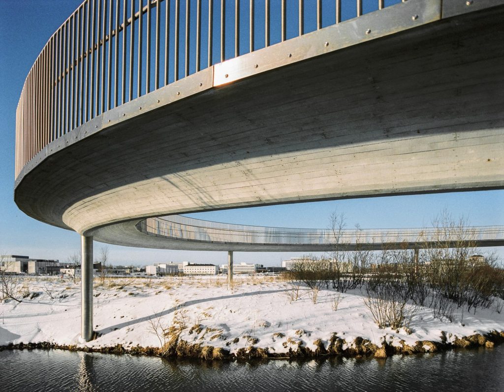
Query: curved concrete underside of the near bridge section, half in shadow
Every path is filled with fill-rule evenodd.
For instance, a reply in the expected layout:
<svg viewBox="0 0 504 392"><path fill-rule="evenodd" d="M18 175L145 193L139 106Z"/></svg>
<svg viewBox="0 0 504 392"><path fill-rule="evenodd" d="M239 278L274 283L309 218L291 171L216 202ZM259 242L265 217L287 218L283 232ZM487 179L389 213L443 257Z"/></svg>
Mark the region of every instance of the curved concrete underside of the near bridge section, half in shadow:
<svg viewBox="0 0 504 392"><path fill-rule="evenodd" d="M169 213L501 189L502 10L341 49L111 126L39 163L16 203L90 235Z"/></svg>

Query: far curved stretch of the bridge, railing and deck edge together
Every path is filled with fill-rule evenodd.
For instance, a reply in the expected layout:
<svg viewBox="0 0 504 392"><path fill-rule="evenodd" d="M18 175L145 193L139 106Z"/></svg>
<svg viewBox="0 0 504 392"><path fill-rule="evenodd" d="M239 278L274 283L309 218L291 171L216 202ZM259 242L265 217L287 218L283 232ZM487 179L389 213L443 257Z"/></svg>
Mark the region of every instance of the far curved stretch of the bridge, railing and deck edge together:
<svg viewBox="0 0 504 392"><path fill-rule="evenodd" d="M235 251L331 251L503 246L504 226L422 229L295 229L234 225L181 215L148 218L136 226L156 247Z"/></svg>

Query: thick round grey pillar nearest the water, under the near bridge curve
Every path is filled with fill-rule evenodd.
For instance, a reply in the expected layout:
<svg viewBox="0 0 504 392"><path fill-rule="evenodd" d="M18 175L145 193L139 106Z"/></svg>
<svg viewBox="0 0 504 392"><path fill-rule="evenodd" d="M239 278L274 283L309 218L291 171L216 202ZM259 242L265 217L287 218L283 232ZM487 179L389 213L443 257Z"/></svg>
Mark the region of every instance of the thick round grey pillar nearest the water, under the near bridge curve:
<svg viewBox="0 0 504 392"><path fill-rule="evenodd" d="M81 337L93 338L93 237L81 236Z"/></svg>

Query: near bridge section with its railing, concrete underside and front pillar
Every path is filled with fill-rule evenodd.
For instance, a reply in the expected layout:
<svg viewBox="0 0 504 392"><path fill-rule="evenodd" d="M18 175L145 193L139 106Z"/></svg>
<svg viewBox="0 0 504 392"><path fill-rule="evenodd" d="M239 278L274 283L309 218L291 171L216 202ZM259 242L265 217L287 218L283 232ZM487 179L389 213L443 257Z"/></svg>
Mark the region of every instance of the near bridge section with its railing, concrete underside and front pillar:
<svg viewBox="0 0 504 392"><path fill-rule="evenodd" d="M503 16L501 0L84 1L23 86L14 191L82 235L83 337L93 238L148 245L144 219L502 189Z"/></svg>

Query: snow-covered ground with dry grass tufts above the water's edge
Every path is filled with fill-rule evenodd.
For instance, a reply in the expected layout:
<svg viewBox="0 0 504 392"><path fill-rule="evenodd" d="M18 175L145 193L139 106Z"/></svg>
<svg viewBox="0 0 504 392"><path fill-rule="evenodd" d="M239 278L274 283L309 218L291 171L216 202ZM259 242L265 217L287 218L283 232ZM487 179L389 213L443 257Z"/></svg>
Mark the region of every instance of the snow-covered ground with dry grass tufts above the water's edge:
<svg viewBox="0 0 504 392"><path fill-rule="evenodd" d="M341 294L335 311L339 293L321 290L313 304L308 289L301 288L300 298L291 301L289 285L278 277L235 275L230 289L225 276L107 278L103 285L95 279L93 327L99 337L82 343L79 282L25 277L23 284L38 296L32 294L21 303L0 303L0 346L48 342L92 348L160 347L161 327L174 322L182 327L179 340L231 353L254 346L278 354L295 350L299 344L315 351L313 342L320 339L327 348L334 333L347 345L361 337L381 347L384 337L392 346L401 341L415 346L419 341L440 342L443 331L447 341L453 342L504 330L504 311L498 313L494 307L478 309L475 315L459 309L454 322L434 318L430 309L420 308L410 334L404 329L380 329L360 291ZM159 326L161 341L154 326Z"/></svg>

